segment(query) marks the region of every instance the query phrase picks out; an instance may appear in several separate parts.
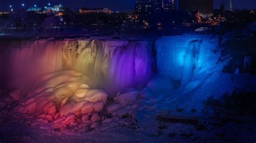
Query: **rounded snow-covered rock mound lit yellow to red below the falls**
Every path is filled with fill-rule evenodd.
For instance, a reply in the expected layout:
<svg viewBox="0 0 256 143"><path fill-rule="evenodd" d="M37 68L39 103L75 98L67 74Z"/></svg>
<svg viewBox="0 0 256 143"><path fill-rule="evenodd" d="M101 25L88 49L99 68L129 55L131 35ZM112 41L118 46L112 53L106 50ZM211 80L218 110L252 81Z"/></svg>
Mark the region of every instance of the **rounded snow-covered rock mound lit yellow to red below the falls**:
<svg viewBox="0 0 256 143"><path fill-rule="evenodd" d="M25 119L26 124L41 125L43 129L63 130L66 125L78 124L77 117L92 113L90 119L94 123L100 119L96 113L104 109L108 95L103 90L90 89L85 81L86 78L77 71L45 74L38 78L33 90L17 103L10 115L18 115L17 118ZM19 92L11 92L11 95L18 98ZM0 102L0 108L6 105L6 102ZM83 120L85 122L85 118Z"/></svg>

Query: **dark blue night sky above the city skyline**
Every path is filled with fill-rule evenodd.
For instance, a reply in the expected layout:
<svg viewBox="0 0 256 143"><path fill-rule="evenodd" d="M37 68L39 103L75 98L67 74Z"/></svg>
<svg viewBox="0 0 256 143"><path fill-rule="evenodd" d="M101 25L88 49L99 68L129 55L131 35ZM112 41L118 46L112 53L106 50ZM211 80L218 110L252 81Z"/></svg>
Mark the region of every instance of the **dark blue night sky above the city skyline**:
<svg viewBox="0 0 256 143"><path fill-rule="evenodd" d="M213 0L214 9L219 8L220 2L223 0ZM226 9L230 0L225 0ZM256 0L232 0L234 9L256 9ZM20 9L21 3L25 3L26 7L38 5L45 6L48 3L52 5L62 4L71 9L87 8L109 8L114 11L132 10L134 9L134 0L0 0L0 10L7 10L11 4L14 9Z"/></svg>

